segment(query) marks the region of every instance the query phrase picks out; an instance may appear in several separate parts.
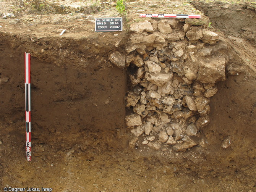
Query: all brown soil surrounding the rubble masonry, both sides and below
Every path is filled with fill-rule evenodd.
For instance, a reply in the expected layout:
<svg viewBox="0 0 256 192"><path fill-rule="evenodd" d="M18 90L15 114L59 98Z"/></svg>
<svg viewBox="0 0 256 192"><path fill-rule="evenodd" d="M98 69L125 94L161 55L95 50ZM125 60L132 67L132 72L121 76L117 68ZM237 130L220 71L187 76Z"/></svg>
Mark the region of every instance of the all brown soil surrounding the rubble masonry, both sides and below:
<svg viewBox="0 0 256 192"><path fill-rule="evenodd" d="M196 13L182 1L138 1L128 5L131 18L136 10L154 4L158 6L150 11ZM210 10L204 5L209 4L200 6ZM225 19L208 15L219 27L213 30L228 43L232 61L226 81L217 84L219 90L211 99L211 123L202 131L209 144L171 158L164 152L128 149L126 71L107 60L113 51L124 50L125 27L122 33L96 33L94 23L78 21L85 14L0 19L0 79L9 78L0 85L0 191L256 191L256 50L254 41L241 35L242 27L255 31L249 21L256 13L243 5L227 5L237 17L243 12L251 17L224 30L218 22ZM215 13L227 5L214 4ZM235 11L238 7L242 11ZM112 7L100 14L117 12ZM67 31L60 37L62 29ZM24 52L32 56L31 162L24 155ZM231 140L227 149L220 147L225 138Z"/></svg>

